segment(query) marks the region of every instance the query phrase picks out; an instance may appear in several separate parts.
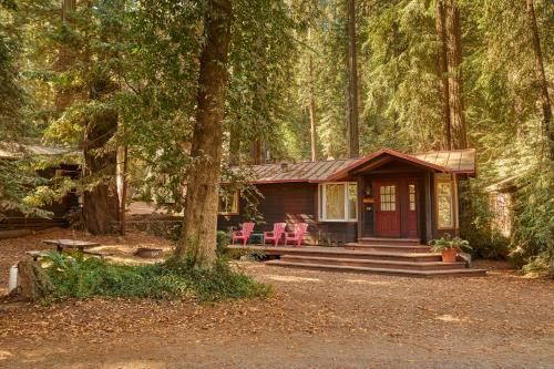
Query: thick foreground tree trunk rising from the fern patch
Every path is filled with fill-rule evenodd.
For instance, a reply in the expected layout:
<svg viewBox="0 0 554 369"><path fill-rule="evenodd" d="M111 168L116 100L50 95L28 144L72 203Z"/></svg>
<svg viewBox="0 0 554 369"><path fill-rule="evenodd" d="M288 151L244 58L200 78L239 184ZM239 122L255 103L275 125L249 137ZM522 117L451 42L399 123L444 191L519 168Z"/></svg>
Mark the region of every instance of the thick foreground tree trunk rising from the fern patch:
<svg viewBox="0 0 554 369"><path fill-rule="evenodd" d="M191 155L195 158L185 199L177 259L211 266L216 259L223 117L230 42L232 2L212 0L204 16L206 42L201 55L198 105Z"/></svg>

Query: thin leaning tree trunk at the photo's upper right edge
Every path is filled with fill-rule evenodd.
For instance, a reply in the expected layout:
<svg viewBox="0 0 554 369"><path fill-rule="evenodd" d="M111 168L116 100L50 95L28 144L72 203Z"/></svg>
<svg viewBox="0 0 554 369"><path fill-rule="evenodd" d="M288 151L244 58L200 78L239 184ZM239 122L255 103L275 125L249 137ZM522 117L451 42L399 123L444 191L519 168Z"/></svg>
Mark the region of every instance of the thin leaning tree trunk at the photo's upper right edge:
<svg viewBox="0 0 554 369"><path fill-rule="evenodd" d="M552 125L552 105L548 95L548 84L544 73L544 60L541 49L541 39L538 37L538 27L536 25L535 7L533 0L527 0L527 18L533 38L533 53L535 55L536 85L540 90L540 100L543 111L543 129L548 140L548 155L554 161L554 126Z"/></svg>

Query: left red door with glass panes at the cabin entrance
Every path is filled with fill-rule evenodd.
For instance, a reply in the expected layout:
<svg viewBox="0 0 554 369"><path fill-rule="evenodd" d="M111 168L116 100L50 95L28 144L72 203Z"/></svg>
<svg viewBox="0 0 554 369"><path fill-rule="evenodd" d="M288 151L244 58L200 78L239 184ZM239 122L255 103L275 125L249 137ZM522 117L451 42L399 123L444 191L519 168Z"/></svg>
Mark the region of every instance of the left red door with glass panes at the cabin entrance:
<svg viewBox="0 0 554 369"><path fill-rule="evenodd" d="M376 235L400 237L400 186L398 182L376 182Z"/></svg>

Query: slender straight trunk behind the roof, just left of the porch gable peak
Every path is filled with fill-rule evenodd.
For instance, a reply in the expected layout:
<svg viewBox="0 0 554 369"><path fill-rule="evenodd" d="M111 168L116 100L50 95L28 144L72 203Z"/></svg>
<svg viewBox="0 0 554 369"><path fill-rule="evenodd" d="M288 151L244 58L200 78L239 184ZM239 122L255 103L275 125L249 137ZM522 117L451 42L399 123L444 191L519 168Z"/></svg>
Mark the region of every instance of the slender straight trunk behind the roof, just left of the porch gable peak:
<svg viewBox="0 0 554 369"><path fill-rule="evenodd" d="M360 154L358 129L358 68L356 60L356 4L348 0L348 124L347 155L358 157Z"/></svg>

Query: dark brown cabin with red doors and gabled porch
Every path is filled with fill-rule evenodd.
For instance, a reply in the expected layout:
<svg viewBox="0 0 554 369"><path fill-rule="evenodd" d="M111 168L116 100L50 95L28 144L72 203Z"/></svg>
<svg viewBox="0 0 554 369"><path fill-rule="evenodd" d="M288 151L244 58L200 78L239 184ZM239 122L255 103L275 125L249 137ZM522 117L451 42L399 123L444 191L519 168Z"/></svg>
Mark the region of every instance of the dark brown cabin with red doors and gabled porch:
<svg viewBox="0 0 554 369"><path fill-rule="evenodd" d="M427 244L458 235L459 184L475 175L475 150L404 154L383 148L359 158L248 167L261 194L264 224L308 223L307 245L345 245L393 238ZM220 202L218 229L248 221L235 193Z"/></svg>

